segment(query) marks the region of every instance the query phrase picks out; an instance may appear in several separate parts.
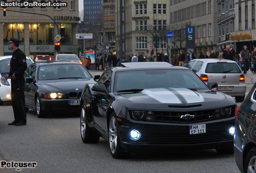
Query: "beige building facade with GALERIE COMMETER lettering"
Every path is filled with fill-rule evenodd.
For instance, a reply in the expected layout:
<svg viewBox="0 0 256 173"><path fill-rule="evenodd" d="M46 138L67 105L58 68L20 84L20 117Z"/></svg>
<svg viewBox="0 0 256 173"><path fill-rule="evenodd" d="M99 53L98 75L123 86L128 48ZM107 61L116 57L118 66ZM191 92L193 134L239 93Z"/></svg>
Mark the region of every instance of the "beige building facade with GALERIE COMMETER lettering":
<svg viewBox="0 0 256 173"><path fill-rule="evenodd" d="M150 56L154 44L154 55L163 49L167 53L167 26L169 26L169 0L124 1L120 21L120 1L116 1L116 50L119 57L120 23L122 23L123 54L126 59L136 53Z"/></svg>

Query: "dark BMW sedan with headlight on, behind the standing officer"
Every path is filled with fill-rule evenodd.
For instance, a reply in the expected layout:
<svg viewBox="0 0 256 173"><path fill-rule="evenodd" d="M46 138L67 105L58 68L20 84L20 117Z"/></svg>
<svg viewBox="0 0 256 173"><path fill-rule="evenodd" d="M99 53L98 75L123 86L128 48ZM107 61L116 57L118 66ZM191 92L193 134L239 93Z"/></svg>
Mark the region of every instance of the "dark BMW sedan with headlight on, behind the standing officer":
<svg viewBox="0 0 256 173"><path fill-rule="evenodd" d="M25 71L27 111L36 110L39 118L50 112L78 112L87 83L95 84L88 70L78 62L37 62Z"/></svg>

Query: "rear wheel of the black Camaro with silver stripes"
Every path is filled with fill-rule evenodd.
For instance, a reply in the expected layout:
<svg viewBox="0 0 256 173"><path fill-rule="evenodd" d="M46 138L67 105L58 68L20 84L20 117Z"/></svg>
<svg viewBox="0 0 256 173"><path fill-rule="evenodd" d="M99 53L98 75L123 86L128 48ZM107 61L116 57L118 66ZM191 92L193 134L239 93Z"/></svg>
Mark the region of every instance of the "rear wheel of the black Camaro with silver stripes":
<svg viewBox="0 0 256 173"><path fill-rule="evenodd" d="M80 129L81 138L84 143L97 143L99 141L99 135L88 126L84 104L80 111Z"/></svg>

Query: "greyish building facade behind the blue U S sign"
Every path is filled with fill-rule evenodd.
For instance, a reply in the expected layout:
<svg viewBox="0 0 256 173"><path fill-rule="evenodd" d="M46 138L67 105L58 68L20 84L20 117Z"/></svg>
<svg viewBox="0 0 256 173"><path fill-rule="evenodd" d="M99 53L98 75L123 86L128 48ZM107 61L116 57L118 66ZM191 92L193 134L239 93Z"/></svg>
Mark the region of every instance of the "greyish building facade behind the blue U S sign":
<svg viewBox="0 0 256 173"><path fill-rule="evenodd" d="M175 42L175 56L179 50L186 51L185 28L193 26L195 31L194 54L198 58L200 52L217 51L218 43L218 22L217 0L170 0L169 4L170 26L173 29L174 37L171 42ZM178 26L178 27L177 27ZM184 30L183 34L175 32ZM176 34L177 33L177 34ZM177 36L178 35L178 36ZM182 35L182 37L179 37ZM182 44L180 42L182 41ZM174 44L171 44L173 47ZM172 54L173 54L172 50Z"/></svg>

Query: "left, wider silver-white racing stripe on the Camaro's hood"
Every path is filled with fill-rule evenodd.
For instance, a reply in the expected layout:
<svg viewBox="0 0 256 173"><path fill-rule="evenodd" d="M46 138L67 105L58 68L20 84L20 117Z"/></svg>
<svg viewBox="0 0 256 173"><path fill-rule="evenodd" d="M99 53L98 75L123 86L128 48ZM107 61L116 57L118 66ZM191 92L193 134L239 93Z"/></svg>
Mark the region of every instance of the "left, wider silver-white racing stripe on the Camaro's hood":
<svg viewBox="0 0 256 173"><path fill-rule="evenodd" d="M152 97L153 99L161 102L161 103L168 103L168 104L181 104L182 102L180 99L173 94L171 91L164 89L164 88L157 88L157 89L145 89L142 93Z"/></svg>

